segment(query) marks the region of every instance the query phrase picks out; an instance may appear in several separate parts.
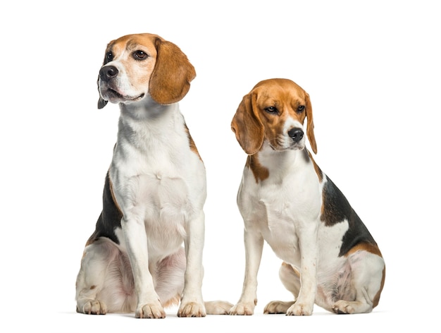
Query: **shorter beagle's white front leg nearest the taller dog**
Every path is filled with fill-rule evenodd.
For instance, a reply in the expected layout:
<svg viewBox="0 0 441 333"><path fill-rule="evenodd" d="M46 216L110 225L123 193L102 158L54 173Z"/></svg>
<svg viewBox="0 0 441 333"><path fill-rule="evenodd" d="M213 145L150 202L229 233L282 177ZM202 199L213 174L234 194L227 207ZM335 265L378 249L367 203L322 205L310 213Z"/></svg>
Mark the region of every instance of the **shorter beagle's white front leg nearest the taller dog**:
<svg viewBox="0 0 441 333"><path fill-rule="evenodd" d="M245 277L242 295L231 308L230 315L253 315L257 304L257 273L262 258L263 237L249 230L244 229Z"/></svg>

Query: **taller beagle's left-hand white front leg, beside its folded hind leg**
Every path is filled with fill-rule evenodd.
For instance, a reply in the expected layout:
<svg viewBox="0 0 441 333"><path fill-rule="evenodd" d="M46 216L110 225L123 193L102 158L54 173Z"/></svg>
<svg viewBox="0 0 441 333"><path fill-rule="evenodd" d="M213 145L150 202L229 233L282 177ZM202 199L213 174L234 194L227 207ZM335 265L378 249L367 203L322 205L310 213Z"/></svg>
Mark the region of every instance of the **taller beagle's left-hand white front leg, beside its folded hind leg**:
<svg viewBox="0 0 441 333"><path fill-rule="evenodd" d="M135 217L121 220L125 243L132 265L135 293L137 294L137 318L163 318L166 313L154 289L153 278L149 271L149 253L144 221Z"/></svg>

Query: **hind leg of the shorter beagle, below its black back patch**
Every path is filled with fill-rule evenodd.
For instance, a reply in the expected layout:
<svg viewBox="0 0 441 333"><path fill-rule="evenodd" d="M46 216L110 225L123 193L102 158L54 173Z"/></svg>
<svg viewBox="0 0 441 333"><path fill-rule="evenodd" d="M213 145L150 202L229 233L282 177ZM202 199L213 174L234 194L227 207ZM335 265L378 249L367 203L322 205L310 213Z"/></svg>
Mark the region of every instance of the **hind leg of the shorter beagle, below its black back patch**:
<svg viewBox="0 0 441 333"><path fill-rule="evenodd" d="M333 305L335 313L370 313L380 300L385 281L385 262L379 255L357 251L349 255L352 290Z"/></svg>

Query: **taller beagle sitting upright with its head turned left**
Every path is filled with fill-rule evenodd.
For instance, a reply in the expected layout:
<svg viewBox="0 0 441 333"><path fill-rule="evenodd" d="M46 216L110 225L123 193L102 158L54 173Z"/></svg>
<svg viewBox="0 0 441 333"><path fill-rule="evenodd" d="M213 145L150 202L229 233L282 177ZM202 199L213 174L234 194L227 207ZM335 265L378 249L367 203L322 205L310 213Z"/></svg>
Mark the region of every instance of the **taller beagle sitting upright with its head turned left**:
<svg viewBox="0 0 441 333"><path fill-rule="evenodd" d="M179 47L158 35L107 46L98 108L118 103L120 119L77 275L79 313L162 318L180 302L179 317L204 317L232 306L204 303L201 293L206 171L178 104L195 76Z"/></svg>

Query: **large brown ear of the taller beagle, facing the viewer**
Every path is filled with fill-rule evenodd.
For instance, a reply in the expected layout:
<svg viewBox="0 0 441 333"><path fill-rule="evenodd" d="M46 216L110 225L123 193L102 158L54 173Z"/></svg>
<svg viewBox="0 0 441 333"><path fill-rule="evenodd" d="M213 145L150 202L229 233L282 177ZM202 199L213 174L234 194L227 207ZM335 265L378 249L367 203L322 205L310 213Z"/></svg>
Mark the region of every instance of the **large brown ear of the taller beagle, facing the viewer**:
<svg viewBox="0 0 441 333"><path fill-rule="evenodd" d="M156 38L155 46L157 54L149 82L150 96L159 104L178 102L190 90L196 71L187 56L172 42Z"/></svg>

